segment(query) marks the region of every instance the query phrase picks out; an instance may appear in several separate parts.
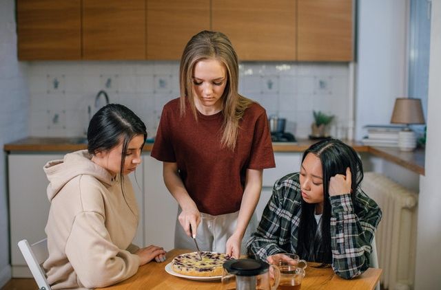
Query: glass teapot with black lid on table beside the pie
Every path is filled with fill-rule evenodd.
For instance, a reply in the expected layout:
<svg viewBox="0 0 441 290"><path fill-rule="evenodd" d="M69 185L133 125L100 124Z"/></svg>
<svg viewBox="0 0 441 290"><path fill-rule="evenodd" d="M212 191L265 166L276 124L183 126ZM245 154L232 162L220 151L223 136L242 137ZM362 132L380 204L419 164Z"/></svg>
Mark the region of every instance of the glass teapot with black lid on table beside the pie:
<svg viewBox="0 0 441 290"><path fill-rule="evenodd" d="M274 285L271 285L269 269L274 273ZM223 290L275 290L279 281L278 267L260 260L238 259L223 263Z"/></svg>

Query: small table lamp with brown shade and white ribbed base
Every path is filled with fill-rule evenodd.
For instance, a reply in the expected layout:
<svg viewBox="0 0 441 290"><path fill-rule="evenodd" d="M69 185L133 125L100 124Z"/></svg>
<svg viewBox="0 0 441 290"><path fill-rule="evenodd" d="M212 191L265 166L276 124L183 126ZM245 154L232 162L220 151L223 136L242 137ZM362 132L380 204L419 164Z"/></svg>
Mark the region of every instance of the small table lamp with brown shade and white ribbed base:
<svg viewBox="0 0 441 290"><path fill-rule="evenodd" d="M420 99L396 98L391 118L393 124L406 124L398 133L398 148L412 151L416 148L416 135L409 124L424 124L424 115Z"/></svg>

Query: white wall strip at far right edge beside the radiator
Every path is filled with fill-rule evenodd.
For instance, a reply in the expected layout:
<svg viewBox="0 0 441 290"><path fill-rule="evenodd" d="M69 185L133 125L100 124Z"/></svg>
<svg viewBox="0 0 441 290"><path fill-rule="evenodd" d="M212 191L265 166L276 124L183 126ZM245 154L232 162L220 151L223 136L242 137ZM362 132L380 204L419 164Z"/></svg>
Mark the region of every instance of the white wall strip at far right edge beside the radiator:
<svg viewBox="0 0 441 290"><path fill-rule="evenodd" d="M441 1L432 1L426 175L420 178L416 290L441 285Z"/></svg>

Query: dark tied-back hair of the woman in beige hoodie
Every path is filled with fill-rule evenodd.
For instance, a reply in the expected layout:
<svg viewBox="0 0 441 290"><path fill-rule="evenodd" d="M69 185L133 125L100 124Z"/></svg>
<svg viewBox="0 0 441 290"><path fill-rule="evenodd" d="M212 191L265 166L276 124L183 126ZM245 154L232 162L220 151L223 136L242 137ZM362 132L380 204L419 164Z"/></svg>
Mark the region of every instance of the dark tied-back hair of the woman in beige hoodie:
<svg viewBox="0 0 441 290"><path fill-rule="evenodd" d="M100 151L110 150L118 146L122 139L120 178L123 181L127 146L136 135L144 135L144 142L147 139L147 130L143 121L122 104L107 104L99 109L90 120L88 151L95 155Z"/></svg>

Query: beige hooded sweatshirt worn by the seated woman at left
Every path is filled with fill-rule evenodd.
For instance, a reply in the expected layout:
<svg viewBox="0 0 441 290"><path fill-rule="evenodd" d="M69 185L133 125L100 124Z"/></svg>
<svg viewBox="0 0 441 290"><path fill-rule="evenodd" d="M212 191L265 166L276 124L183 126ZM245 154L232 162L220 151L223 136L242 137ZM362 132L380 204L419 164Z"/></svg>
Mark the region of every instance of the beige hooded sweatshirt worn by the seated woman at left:
<svg viewBox="0 0 441 290"><path fill-rule="evenodd" d="M52 289L106 287L134 275L138 247L131 244L138 208L128 177L94 164L87 150L44 166L50 184L49 258L43 264Z"/></svg>

